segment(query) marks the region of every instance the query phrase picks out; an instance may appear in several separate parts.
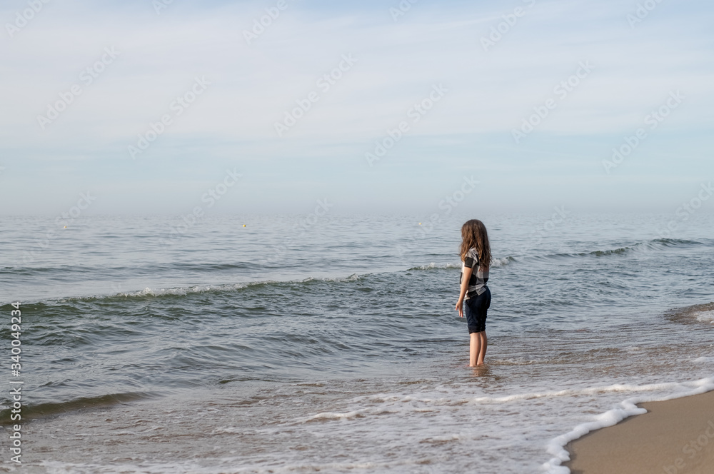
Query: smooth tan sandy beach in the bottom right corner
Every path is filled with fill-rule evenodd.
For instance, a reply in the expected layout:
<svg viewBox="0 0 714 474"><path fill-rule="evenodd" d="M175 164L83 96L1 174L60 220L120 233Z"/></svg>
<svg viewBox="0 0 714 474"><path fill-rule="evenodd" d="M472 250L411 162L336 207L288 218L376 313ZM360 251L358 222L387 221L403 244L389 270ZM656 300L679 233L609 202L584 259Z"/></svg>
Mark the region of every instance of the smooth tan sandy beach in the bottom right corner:
<svg viewBox="0 0 714 474"><path fill-rule="evenodd" d="M640 406L648 413L570 443L571 472L714 473L714 392Z"/></svg>

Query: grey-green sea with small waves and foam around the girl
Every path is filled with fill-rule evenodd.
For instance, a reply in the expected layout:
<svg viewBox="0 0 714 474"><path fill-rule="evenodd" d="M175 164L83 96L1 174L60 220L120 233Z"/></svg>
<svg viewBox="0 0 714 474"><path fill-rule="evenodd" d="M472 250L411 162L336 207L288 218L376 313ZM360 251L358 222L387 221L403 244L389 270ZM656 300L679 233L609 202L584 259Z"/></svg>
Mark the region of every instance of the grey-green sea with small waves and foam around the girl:
<svg viewBox="0 0 714 474"><path fill-rule="evenodd" d="M570 440L714 389L703 209L1 223L0 472L568 473Z"/></svg>

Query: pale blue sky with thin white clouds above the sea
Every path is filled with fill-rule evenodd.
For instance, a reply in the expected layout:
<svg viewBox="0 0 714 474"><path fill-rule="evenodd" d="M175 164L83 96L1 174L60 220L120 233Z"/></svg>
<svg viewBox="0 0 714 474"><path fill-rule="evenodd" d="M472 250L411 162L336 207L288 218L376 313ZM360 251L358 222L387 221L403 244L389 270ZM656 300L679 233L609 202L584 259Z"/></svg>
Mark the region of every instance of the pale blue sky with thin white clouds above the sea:
<svg viewBox="0 0 714 474"><path fill-rule="evenodd" d="M0 213L674 212L714 178L713 19L672 0L4 0Z"/></svg>

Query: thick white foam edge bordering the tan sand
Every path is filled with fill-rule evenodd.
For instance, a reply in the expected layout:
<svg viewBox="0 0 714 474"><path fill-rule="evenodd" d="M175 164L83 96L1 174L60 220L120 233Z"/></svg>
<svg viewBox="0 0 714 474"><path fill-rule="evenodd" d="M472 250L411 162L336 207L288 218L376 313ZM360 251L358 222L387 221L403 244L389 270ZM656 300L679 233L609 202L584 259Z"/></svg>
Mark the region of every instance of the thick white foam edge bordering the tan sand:
<svg viewBox="0 0 714 474"><path fill-rule="evenodd" d="M551 474L570 473L570 469L561 465L562 463L570 460L570 453L565 450L565 445L568 445L570 441L576 440L581 436L590 433L590 431L615 425L629 416L647 413L647 410L637 406L638 403L672 400L673 398L698 395L699 393L714 390L714 378L702 378L694 382L685 383L659 383L653 385L643 385L643 388L652 386L660 386L663 388L672 387L675 388L675 390L674 393L670 393L670 395L650 397L638 396L628 398L620 403L620 407L601 413L600 415L595 416L592 421L581 423L580 425L575 426L575 428L570 430L568 433L550 440L550 443L548 443L548 453L552 455L553 458L550 458L547 463L543 464L543 470L545 470L546 473Z"/></svg>

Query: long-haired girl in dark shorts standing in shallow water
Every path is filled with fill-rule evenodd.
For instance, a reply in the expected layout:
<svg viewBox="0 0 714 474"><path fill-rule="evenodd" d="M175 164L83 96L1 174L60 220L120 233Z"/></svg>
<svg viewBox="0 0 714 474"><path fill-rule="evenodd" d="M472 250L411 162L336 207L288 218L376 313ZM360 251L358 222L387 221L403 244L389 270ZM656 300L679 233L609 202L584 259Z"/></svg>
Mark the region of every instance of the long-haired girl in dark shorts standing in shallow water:
<svg viewBox="0 0 714 474"><path fill-rule="evenodd" d="M488 244L486 226L478 219L471 219L461 227L461 292L456 302L458 316L463 318L463 303L466 299L466 326L471 337L468 366L483 365L486 357L486 311L491 306L491 290L488 282L488 267L491 265L491 246Z"/></svg>

